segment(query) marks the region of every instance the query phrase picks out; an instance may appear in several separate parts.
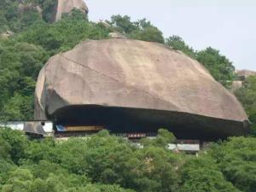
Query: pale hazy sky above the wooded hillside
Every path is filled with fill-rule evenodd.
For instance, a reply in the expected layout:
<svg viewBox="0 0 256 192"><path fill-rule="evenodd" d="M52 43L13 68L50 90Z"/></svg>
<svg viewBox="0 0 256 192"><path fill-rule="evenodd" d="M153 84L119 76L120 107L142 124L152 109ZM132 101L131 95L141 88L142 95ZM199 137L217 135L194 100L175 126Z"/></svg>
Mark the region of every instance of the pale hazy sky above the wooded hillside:
<svg viewBox="0 0 256 192"><path fill-rule="evenodd" d="M165 38L178 35L196 50L219 49L237 69L256 71L255 0L84 0L89 19L146 18Z"/></svg>

